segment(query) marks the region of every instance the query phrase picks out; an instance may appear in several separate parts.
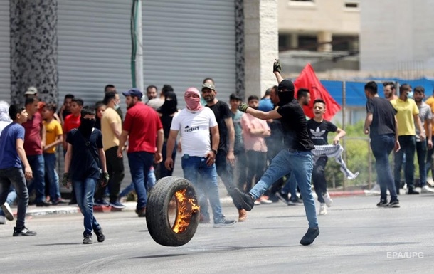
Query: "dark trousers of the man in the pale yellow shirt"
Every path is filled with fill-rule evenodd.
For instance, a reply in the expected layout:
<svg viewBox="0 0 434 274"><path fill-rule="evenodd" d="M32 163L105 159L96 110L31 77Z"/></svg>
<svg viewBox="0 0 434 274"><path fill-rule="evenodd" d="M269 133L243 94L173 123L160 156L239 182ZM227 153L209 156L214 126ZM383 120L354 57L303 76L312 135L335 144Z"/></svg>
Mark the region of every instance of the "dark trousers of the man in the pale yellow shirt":
<svg viewBox="0 0 434 274"><path fill-rule="evenodd" d="M120 184L124 179L124 161L122 158L117 157L117 146L111 147L105 151L105 159L107 164L107 173L110 176L110 181L107 186L110 191L110 203L117 201L117 196L120 191ZM97 191L95 193L95 200L101 200L105 194L107 186L101 186L98 184Z"/></svg>

